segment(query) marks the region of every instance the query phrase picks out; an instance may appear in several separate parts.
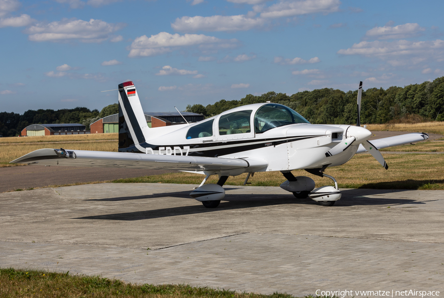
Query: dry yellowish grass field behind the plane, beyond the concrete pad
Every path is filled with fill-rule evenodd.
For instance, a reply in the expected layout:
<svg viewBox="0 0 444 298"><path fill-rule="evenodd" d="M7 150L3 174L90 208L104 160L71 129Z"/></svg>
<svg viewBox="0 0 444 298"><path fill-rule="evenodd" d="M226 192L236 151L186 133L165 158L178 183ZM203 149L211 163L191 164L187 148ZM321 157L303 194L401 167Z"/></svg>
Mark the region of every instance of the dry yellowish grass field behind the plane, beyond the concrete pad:
<svg viewBox="0 0 444 298"><path fill-rule="evenodd" d="M395 124L392 130L426 131L444 134L444 123ZM370 130L383 126L370 126ZM26 142L24 142L26 141ZM48 136L0 139L0 167L11 166L9 161L41 148L65 148L78 150L117 151L117 134L93 134L71 136ZM384 150L407 152L443 152L444 141L426 141L415 145L404 145ZM382 152L383 153L383 152ZM384 154L384 153L383 153ZM444 154L384 154L389 169L384 170L370 154L357 154L349 162L328 168L326 174L335 177L340 187L346 188L409 188L444 189ZM333 185L328 178L320 178L303 170L294 171L295 176L312 177L317 186ZM246 174L230 177L227 185L242 185ZM190 173L173 173L158 176L118 180L130 183L185 183L200 184L203 176ZM282 174L256 173L250 178L253 186L279 186L285 181ZM216 183L211 177L208 183Z"/></svg>

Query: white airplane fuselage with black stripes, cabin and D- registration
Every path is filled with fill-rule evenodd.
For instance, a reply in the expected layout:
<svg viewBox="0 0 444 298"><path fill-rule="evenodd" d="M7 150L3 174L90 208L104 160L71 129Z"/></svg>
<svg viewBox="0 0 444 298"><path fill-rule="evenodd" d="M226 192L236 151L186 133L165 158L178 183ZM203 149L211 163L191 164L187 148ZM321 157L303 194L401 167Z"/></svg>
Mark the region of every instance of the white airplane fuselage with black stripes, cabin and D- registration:
<svg viewBox="0 0 444 298"><path fill-rule="evenodd" d="M264 109L267 109L270 117L276 117L277 114L278 117L288 118L274 120L272 127L265 127L270 123L267 122L267 113L260 114ZM190 125L151 128L145 142L137 148L126 148L124 151L266 159L268 166L261 171L291 171L319 168L326 164L341 165L356 153L358 146L350 146L340 154L326 156L326 152L346 138L350 125L310 124L300 115L300 119L292 119L299 123L289 123L287 120L291 120L292 115L286 114L287 110L290 109L278 104L253 104L234 108ZM365 137L370 136L368 130L361 127L359 129L368 132L364 132Z"/></svg>

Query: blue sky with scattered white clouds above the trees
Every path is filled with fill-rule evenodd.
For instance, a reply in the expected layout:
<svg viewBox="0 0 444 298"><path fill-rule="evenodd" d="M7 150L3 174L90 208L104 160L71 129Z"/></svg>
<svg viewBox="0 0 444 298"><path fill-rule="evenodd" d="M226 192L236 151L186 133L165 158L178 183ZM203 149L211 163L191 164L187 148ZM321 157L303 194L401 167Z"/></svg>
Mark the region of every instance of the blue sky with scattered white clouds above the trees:
<svg viewBox="0 0 444 298"><path fill-rule="evenodd" d="M0 112L144 111L444 75L443 1L0 0Z"/></svg>

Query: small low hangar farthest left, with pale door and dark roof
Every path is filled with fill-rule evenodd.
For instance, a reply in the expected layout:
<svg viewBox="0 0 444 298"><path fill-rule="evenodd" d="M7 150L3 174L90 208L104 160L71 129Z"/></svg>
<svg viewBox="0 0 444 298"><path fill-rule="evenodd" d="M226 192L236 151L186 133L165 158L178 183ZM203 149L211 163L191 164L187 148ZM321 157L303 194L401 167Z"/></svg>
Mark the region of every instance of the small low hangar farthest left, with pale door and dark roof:
<svg viewBox="0 0 444 298"><path fill-rule="evenodd" d="M22 136L51 136L89 134L85 125L78 123L31 124L25 127Z"/></svg>

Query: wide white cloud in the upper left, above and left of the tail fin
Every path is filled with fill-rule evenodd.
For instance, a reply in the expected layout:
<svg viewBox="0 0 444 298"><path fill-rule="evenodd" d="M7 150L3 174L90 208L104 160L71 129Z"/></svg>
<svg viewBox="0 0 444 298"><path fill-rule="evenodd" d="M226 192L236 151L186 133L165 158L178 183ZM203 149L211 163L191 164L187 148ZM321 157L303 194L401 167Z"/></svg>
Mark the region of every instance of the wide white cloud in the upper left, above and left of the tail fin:
<svg viewBox="0 0 444 298"><path fill-rule="evenodd" d="M89 22L76 19L63 19L49 24L39 23L25 30L32 41L66 41L79 39L82 42L100 42L123 28L124 24L110 24L102 20Z"/></svg>

